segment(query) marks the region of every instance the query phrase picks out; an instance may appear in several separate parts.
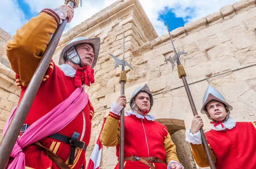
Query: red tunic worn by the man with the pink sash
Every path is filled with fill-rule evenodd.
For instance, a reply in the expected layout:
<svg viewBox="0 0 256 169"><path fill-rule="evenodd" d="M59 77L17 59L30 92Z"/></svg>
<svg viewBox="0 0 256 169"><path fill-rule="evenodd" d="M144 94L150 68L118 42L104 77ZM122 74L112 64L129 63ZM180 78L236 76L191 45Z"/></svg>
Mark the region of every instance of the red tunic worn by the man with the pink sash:
<svg viewBox="0 0 256 169"><path fill-rule="evenodd" d="M16 81L19 83L18 76ZM22 98L26 88L27 87L21 86L20 99ZM58 68L58 66L56 66L52 61L47 70L44 82L42 82L38 93L35 96L35 99L24 123L31 125L36 120L51 111L62 101L67 99L74 90L76 90L76 87L74 87L74 77L65 76L63 71ZM90 101L88 101L87 105L84 105L83 112L79 113L79 115L77 115L77 117L70 124L68 124L58 133L72 137L75 131L79 132L81 134L79 136L79 140L81 137L83 137L82 141L88 145L91 134L91 119L93 118L94 114L94 110L90 104ZM64 162L68 163L68 157L70 153L69 144L52 138L44 138L40 141L40 143L52 150L52 152L56 153L56 155L58 155L58 157L60 157ZM44 150L38 146L27 146L23 149L23 152L25 153L25 163L28 167L35 169L58 168L55 163L52 163L52 161L47 158ZM80 169L83 164L84 166L86 164L85 151L76 149L75 160L73 165L70 165L70 168Z"/></svg>

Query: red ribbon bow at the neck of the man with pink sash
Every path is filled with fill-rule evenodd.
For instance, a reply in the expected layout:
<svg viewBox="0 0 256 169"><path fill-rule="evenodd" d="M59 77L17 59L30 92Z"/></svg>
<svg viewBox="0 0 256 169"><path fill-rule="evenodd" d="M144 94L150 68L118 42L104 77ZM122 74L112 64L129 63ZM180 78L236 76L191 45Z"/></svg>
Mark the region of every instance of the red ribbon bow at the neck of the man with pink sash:
<svg viewBox="0 0 256 169"><path fill-rule="evenodd" d="M94 83L94 70L90 66L85 66L76 70L75 74L75 87L82 85L90 86Z"/></svg>

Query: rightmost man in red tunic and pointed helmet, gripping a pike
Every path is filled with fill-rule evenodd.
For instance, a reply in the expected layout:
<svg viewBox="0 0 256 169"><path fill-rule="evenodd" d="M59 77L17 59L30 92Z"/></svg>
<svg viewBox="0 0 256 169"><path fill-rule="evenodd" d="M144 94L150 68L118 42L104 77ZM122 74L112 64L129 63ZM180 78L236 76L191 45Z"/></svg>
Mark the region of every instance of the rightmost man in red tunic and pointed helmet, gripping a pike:
<svg viewBox="0 0 256 169"><path fill-rule="evenodd" d="M256 121L235 122L230 117L233 108L214 87L207 88L201 113L211 120L212 130L205 132L208 146L216 169L255 169L256 168ZM192 147L192 154L198 166L209 163L201 140L202 118L195 115L191 129L186 131L186 141Z"/></svg>

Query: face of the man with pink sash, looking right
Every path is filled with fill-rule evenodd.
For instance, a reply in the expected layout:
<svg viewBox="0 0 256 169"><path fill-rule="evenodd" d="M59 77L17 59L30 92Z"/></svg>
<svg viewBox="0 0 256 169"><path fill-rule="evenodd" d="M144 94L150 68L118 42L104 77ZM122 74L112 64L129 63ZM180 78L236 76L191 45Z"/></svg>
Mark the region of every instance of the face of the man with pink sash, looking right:
<svg viewBox="0 0 256 169"><path fill-rule="evenodd" d="M91 45L88 43L81 43L76 46L76 50L81 58L81 64L83 66L92 66L94 60L94 51Z"/></svg>

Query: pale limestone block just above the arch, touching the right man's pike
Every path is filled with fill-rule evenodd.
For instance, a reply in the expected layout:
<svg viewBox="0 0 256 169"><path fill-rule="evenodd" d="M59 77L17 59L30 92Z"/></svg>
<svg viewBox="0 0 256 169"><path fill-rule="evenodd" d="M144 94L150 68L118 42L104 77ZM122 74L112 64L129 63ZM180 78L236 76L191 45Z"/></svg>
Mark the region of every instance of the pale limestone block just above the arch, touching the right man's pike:
<svg viewBox="0 0 256 169"><path fill-rule="evenodd" d="M187 97L174 97L172 101L171 118L184 120L189 107Z"/></svg>

